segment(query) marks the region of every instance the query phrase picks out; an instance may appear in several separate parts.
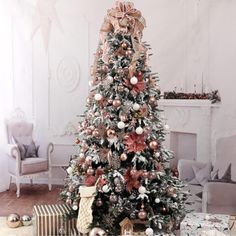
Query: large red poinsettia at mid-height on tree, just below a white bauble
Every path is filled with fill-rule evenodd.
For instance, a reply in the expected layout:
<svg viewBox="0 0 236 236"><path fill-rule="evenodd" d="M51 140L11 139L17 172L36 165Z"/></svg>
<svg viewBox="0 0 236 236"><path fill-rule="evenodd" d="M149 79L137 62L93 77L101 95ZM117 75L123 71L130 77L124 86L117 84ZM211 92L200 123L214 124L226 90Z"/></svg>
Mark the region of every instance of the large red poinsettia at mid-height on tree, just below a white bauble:
<svg viewBox="0 0 236 236"><path fill-rule="evenodd" d="M127 153L130 152L141 152L145 149L145 134L136 134L132 132L125 136L124 143L126 145Z"/></svg>

